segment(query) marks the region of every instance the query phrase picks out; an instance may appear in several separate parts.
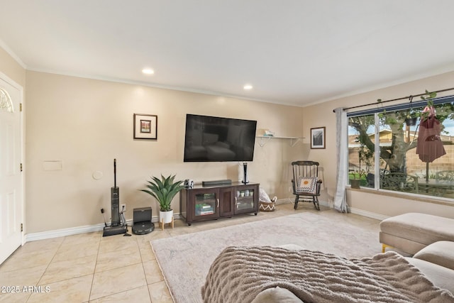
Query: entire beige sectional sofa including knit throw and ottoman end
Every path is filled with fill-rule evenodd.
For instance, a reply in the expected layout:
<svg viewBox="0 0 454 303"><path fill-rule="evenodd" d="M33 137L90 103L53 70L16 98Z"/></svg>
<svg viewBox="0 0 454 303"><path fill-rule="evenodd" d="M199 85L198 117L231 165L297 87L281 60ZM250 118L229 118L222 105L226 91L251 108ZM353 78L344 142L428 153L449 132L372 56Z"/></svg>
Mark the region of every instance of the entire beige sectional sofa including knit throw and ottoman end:
<svg viewBox="0 0 454 303"><path fill-rule="evenodd" d="M389 218L380 226L383 252L362 259L292 245L229 247L211 264L201 294L210 303L454 303L451 224L425 214Z"/></svg>

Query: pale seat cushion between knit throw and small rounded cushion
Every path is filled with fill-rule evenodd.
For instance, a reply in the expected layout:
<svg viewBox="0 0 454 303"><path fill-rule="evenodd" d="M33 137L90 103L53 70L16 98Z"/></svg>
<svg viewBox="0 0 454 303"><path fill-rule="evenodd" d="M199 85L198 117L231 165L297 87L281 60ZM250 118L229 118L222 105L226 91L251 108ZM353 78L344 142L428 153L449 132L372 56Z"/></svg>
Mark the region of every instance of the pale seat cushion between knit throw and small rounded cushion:
<svg viewBox="0 0 454 303"><path fill-rule="evenodd" d="M454 270L421 259L406 257L406 260L418 268L433 285L449 290L454 294Z"/></svg>

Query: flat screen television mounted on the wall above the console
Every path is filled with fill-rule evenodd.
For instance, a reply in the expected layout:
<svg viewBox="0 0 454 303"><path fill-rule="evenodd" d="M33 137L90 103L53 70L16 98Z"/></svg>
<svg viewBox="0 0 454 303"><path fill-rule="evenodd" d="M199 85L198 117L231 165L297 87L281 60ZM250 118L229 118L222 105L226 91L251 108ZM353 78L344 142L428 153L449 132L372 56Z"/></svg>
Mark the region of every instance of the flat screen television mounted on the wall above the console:
<svg viewBox="0 0 454 303"><path fill-rule="evenodd" d="M257 121L186 115L184 162L252 161Z"/></svg>

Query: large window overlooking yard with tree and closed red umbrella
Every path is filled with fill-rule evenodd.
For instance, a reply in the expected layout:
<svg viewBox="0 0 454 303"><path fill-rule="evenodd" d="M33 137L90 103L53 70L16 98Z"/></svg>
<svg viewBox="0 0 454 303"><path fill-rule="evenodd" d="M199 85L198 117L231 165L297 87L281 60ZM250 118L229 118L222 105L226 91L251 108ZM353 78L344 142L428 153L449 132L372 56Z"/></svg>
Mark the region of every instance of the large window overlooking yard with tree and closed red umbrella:
<svg viewBox="0 0 454 303"><path fill-rule="evenodd" d="M348 114L350 184L454 199L454 96L432 101Z"/></svg>

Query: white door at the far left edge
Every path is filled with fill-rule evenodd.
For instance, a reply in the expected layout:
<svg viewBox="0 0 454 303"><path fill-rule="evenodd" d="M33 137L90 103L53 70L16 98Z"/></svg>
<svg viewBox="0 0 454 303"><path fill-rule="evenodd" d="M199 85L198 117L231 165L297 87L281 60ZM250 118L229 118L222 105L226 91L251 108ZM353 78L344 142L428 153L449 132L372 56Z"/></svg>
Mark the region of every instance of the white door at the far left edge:
<svg viewBox="0 0 454 303"><path fill-rule="evenodd" d="M22 90L10 83L0 75L0 264L22 244Z"/></svg>

